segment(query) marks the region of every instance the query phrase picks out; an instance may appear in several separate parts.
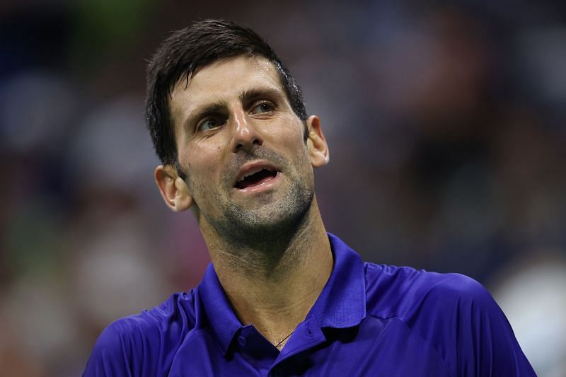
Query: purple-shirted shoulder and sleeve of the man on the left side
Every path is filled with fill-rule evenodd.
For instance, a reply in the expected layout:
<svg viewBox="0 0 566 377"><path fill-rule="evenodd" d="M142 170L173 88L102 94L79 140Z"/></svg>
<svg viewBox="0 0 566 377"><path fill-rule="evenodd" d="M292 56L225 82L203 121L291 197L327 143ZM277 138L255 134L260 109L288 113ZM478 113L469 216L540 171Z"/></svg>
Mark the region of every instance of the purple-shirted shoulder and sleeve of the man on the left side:
<svg viewBox="0 0 566 377"><path fill-rule="evenodd" d="M110 323L93 347L84 376L155 376L195 327L195 290Z"/></svg>

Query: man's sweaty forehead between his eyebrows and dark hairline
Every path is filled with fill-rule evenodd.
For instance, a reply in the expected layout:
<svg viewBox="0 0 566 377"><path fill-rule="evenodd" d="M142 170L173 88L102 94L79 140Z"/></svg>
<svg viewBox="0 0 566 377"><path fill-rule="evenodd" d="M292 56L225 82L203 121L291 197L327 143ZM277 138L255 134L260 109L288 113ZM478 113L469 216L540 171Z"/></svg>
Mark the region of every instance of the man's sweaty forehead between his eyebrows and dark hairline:
<svg viewBox="0 0 566 377"><path fill-rule="evenodd" d="M185 117L210 103L229 102L243 91L258 88L284 89L279 72L264 57L239 56L220 59L204 66L195 74L180 79L171 91L171 113Z"/></svg>

